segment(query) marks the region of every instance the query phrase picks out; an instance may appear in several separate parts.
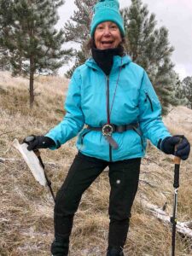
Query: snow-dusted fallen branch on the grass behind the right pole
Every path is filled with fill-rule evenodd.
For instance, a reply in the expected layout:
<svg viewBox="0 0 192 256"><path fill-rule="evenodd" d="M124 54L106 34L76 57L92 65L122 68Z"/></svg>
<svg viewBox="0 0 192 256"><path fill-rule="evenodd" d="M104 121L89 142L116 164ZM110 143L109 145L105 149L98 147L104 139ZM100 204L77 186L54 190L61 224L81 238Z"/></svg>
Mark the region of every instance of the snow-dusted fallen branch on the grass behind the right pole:
<svg viewBox="0 0 192 256"><path fill-rule="evenodd" d="M160 207L157 207L144 199L142 199L141 203L143 207L148 208L148 211L151 212L154 215L154 217L162 220L165 224L171 224L170 216L168 216L166 212L160 209ZM182 234L183 236L188 236L189 238L192 238L192 230L189 228L191 227L191 223L191 221L177 221L177 232Z"/></svg>

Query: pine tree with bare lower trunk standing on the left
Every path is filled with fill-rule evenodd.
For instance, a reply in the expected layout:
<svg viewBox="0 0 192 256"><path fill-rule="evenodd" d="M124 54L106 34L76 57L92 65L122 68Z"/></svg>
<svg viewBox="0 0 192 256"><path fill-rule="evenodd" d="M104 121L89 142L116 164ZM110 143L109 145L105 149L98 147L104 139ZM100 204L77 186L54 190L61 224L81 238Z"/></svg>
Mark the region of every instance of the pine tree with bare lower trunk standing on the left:
<svg viewBox="0 0 192 256"><path fill-rule="evenodd" d="M36 74L55 73L69 58L71 49L61 49L64 33L57 31L61 0L13 0L13 23L7 27L4 44L10 52L14 75L30 79L30 107L34 102Z"/></svg>

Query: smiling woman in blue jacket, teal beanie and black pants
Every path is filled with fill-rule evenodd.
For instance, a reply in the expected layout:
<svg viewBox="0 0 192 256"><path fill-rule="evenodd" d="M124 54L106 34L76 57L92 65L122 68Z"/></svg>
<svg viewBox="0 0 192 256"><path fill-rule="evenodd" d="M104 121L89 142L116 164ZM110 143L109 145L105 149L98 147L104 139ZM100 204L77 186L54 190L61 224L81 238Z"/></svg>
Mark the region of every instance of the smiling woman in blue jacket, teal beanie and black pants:
<svg viewBox="0 0 192 256"><path fill-rule="evenodd" d="M96 4L90 35L92 58L73 73L65 118L28 146L29 150L59 148L79 133L79 153L56 195L54 256L68 255L81 196L106 166L111 186L107 255L124 255L146 139L166 154L183 160L189 156L185 137L175 151L180 137L172 137L163 124L160 102L147 73L124 54L125 30L117 0Z"/></svg>

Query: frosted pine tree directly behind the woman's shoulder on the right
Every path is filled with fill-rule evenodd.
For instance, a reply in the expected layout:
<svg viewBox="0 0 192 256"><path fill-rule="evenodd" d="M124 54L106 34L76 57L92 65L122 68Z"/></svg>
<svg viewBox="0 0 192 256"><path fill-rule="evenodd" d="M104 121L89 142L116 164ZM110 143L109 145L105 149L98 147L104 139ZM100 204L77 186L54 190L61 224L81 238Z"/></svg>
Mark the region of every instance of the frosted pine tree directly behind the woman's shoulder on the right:
<svg viewBox="0 0 192 256"><path fill-rule="evenodd" d="M155 15L148 14L147 5L141 0L131 0L130 8L123 9L122 15L125 20L125 48L132 61L147 71L160 98L163 114L166 114L170 104L180 103L175 96L177 76L171 61L174 49L168 41L168 30L165 26L155 28Z"/></svg>

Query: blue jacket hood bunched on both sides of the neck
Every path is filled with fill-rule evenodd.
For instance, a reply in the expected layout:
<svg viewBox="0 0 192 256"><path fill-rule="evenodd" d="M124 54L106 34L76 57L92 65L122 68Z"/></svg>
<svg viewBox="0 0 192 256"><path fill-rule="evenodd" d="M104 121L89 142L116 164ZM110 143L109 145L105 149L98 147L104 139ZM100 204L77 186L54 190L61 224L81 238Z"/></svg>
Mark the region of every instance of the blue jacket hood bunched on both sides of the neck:
<svg viewBox="0 0 192 256"><path fill-rule="evenodd" d="M131 63L131 57L128 55L125 55L123 57L119 55L113 56L113 67L121 67L121 66L123 67L125 65L128 65L129 63ZM85 65L87 65L92 69L96 69L96 70L100 69L100 67L98 67L98 65L96 64L96 61L94 61L93 58L90 58L87 61L85 61Z"/></svg>

